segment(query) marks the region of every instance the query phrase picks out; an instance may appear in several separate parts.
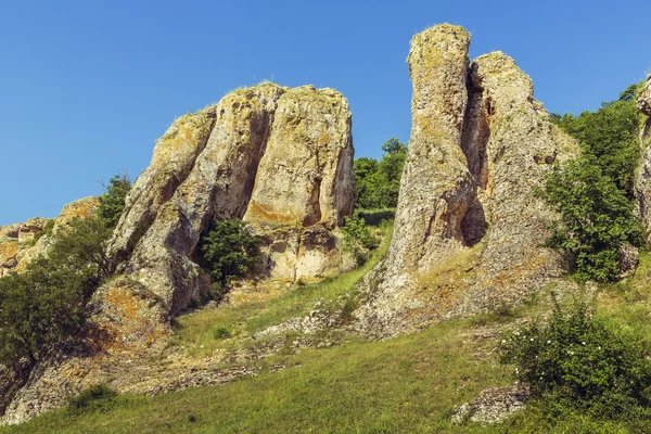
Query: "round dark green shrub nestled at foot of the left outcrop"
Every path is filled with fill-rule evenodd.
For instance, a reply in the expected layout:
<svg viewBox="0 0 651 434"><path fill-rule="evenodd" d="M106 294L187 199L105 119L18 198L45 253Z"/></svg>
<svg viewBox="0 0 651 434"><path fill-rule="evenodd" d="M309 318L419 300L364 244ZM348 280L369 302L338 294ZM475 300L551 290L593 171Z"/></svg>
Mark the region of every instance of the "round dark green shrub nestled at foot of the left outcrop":
<svg viewBox="0 0 651 434"><path fill-rule="evenodd" d="M210 297L220 301L233 279L260 259L260 239L242 220L216 220L199 243L200 263L213 280Z"/></svg>

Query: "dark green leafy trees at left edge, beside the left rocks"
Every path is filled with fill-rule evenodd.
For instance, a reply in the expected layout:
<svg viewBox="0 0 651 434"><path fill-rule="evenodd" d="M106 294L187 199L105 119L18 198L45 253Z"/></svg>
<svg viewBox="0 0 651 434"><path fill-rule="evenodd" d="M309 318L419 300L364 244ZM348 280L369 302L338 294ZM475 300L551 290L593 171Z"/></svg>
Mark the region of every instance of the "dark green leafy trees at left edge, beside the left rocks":
<svg viewBox="0 0 651 434"><path fill-rule="evenodd" d="M42 359L84 327L86 301L110 275L100 218L73 220L56 231L47 256L0 279L0 363Z"/></svg>

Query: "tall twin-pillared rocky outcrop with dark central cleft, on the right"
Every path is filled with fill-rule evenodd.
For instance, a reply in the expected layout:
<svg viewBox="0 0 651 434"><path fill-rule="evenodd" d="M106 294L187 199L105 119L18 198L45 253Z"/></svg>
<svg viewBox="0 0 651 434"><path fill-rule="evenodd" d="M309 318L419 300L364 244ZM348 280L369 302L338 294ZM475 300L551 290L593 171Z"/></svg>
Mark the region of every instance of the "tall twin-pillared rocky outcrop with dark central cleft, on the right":
<svg viewBox="0 0 651 434"><path fill-rule="evenodd" d="M533 191L577 146L511 58L470 63L469 42L447 24L411 41L412 131L394 239L360 284L369 304L359 316L379 334L516 303L564 270L540 246L553 215Z"/></svg>

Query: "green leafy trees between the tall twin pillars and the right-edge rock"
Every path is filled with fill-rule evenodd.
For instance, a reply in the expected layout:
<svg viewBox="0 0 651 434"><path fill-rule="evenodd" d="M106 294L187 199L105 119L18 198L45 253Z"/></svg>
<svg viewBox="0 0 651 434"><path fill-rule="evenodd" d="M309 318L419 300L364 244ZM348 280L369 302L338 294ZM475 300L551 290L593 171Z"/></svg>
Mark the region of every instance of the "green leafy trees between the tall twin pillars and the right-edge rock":
<svg viewBox="0 0 651 434"><path fill-rule="evenodd" d="M549 240L573 259L579 280L615 280L618 247L641 244L634 209L635 169L639 163L639 85L597 112L550 118L578 140L582 157L557 167L538 192L560 216Z"/></svg>

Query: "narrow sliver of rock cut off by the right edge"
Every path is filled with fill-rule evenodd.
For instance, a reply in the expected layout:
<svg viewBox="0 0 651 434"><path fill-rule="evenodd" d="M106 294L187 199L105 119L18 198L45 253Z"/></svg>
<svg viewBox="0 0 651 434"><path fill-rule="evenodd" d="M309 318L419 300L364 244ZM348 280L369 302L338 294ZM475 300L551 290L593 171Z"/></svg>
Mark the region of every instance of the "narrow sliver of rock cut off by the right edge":
<svg viewBox="0 0 651 434"><path fill-rule="evenodd" d="M651 241L651 75L637 98L639 111L647 116L640 132L642 158L636 181L636 196L639 215L647 230L647 241Z"/></svg>

